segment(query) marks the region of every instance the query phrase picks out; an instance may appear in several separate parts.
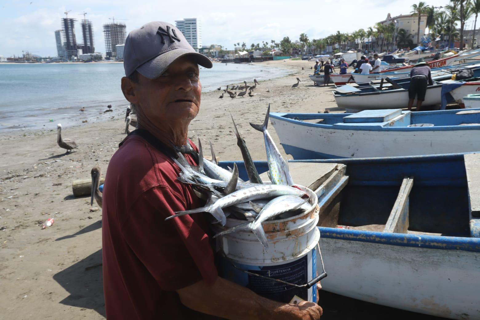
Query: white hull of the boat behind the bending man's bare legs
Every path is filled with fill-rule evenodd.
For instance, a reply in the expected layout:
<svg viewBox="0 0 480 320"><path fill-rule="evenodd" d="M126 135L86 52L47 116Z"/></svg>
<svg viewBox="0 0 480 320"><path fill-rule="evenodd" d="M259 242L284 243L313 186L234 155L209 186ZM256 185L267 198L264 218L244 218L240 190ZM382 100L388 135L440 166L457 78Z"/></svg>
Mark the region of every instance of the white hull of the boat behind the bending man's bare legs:
<svg viewBox="0 0 480 320"><path fill-rule="evenodd" d="M441 93L442 86L428 88L422 105L432 106L440 104L442 99ZM402 90L372 95L335 95L335 101L339 108L353 110L353 112L372 109L406 108L408 107L408 91ZM416 104L416 101L415 99L414 104Z"/></svg>

